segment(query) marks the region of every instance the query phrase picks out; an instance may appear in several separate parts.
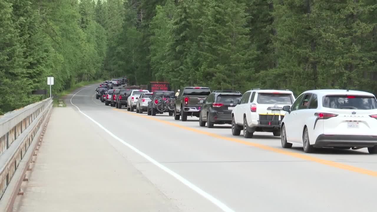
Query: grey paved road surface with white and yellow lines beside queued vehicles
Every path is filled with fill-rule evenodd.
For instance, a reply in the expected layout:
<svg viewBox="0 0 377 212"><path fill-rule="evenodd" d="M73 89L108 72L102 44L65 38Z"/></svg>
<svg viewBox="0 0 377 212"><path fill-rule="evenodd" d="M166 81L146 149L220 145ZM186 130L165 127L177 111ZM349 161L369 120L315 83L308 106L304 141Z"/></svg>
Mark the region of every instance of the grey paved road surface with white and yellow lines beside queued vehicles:
<svg viewBox="0 0 377 212"><path fill-rule="evenodd" d="M180 211L376 211L377 155L366 149L282 149L272 133L245 139L230 125L208 129L196 117L105 106L96 86L69 95L67 106Z"/></svg>

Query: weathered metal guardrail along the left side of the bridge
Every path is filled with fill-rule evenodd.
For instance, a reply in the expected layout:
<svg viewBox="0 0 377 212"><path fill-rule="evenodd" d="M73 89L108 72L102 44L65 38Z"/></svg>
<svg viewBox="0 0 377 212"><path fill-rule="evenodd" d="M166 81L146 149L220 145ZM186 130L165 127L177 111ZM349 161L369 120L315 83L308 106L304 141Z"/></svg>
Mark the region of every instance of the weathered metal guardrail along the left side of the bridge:
<svg viewBox="0 0 377 212"><path fill-rule="evenodd" d="M47 98L0 118L0 200L51 109Z"/></svg>

